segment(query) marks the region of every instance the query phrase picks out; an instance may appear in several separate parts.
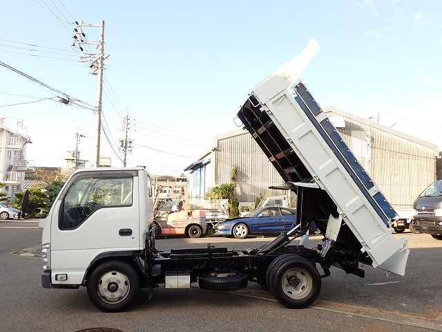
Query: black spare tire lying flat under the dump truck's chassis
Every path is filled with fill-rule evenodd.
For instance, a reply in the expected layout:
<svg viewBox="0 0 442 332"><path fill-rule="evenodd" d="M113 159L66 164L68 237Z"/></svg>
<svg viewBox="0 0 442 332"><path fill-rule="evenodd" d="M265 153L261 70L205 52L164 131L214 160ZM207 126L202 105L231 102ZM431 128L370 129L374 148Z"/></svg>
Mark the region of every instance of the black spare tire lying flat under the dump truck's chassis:
<svg viewBox="0 0 442 332"><path fill-rule="evenodd" d="M247 287L247 284L247 274L244 272L206 272L198 277L200 288L208 291L234 291Z"/></svg>

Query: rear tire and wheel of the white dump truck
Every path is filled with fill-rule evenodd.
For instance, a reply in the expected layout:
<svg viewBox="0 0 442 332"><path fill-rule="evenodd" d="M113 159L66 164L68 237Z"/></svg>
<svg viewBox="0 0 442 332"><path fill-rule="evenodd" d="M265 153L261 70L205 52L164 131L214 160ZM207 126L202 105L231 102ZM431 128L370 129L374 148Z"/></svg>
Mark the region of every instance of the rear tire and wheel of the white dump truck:
<svg viewBox="0 0 442 332"><path fill-rule="evenodd" d="M269 277L270 290L287 308L305 308L320 293L321 280L316 266L305 258L291 255L273 266Z"/></svg>

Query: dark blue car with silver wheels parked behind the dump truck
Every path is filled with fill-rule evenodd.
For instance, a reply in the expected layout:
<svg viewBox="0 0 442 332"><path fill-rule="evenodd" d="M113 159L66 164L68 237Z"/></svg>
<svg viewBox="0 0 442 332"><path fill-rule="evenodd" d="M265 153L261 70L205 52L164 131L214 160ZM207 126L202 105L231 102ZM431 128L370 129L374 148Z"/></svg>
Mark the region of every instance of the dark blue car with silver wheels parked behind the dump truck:
<svg viewBox="0 0 442 332"><path fill-rule="evenodd" d="M296 226L296 210L276 206L254 210L241 218L227 219L213 227L215 235L244 239L248 235L278 235Z"/></svg>

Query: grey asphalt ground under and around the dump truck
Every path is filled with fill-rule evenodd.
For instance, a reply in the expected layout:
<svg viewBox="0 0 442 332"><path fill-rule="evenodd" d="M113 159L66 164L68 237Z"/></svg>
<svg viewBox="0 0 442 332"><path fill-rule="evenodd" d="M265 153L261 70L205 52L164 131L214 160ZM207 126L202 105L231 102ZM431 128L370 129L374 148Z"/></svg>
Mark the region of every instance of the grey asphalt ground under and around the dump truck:
<svg viewBox="0 0 442 332"><path fill-rule="evenodd" d="M37 221L0 221L0 331L442 331L442 241L427 234L395 234L409 243L404 277L366 266L361 279L333 268L309 308L287 309L249 283L226 293L160 287L125 313L98 311L85 288L41 288L40 236ZM311 237L308 246L320 239ZM245 249L270 240L170 238L157 240L157 248Z"/></svg>

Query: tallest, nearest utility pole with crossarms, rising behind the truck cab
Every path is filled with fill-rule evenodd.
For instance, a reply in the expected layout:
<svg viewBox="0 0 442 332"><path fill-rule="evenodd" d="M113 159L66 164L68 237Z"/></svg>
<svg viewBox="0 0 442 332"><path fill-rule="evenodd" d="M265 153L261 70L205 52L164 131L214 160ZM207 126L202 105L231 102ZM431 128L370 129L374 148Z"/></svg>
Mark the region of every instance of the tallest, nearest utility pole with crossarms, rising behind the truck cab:
<svg viewBox="0 0 442 332"><path fill-rule="evenodd" d="M90 68L93 69L93 74L98 75L98 96L97 96L97 145L96 145L96 154L95 154L95 167L99 167L99 148L100 148L100 135L102 131L102 92L103 92L103 65L104 65L104 21L99 26L95 26L93 24L84 24L83 21L75 22L77 24L77 28L74 30L74 44L79 44L79 49L83 51L81 44L91 44L97 46L99 48L99 53L97 54L97 58L93 60ZM100 27L99 34L99 42L85 42L83 37L84 35L81 27L82 26L92 26L92 27ZM88 57L94 56L93 54L89 54Z"/></svg>

